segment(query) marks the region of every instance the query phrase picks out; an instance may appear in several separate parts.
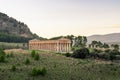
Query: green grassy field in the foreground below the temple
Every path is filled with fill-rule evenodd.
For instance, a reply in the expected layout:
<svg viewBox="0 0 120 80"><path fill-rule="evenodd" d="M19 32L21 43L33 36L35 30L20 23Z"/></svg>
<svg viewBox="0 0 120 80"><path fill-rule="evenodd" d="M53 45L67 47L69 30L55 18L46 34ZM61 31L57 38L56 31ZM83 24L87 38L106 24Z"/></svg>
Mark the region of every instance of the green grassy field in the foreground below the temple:
<svg viewBox="0 0 120 80"><path fill-rule="evenodd" d="M120 63L100 60L68 58L52 52L38 51L40 60L35 61L30 51L7 50L13 57L0 63L0 80L120 80ZM26 58L30 64L25 65ZM11 71L16 65L17 70ZM31 76L33 67L47 69L45 76Z"/></svg>

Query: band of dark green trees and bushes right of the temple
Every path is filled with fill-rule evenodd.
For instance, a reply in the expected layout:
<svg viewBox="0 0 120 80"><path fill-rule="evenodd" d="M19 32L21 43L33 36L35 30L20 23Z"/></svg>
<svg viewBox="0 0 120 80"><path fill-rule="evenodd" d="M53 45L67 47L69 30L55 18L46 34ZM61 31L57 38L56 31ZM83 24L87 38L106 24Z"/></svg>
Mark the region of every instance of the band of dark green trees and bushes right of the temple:
<svg viewBox="0 0 120 80"><path fill-rule="evenodd" d="M94 58L103 60L120 60L120 46L118 44L109 45L101 41L92 41L87 44L85 36L68 35L66 38L71 40L73 53L66 53L67 57L74 58Z"/></svg>

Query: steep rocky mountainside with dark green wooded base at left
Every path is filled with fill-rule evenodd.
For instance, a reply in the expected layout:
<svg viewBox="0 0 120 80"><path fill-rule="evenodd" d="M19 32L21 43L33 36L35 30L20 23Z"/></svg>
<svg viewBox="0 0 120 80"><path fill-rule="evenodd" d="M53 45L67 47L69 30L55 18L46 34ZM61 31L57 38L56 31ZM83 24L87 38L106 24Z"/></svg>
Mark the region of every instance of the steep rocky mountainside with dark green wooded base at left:
<svg viewBox="0 0 120 80"><path fill-rule="evenodd" d="M33 38L44 39L33 34L25 23L0 12L0 42L26 42Z"/></svg>

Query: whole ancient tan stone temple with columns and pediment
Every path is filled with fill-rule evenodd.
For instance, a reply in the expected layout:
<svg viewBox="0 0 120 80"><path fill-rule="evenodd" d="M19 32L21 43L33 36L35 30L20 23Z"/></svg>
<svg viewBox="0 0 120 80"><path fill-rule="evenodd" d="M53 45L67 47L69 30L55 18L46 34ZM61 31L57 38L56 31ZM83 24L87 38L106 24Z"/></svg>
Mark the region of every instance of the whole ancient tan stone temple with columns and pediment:
<svg viewBox="0 0 120 80"><path fill-rule="evenodd" d="M71 41L66 38L58 40L37 40L33 39L29 41L30 50L48 50L55 52L70 52Z"/></svg>

